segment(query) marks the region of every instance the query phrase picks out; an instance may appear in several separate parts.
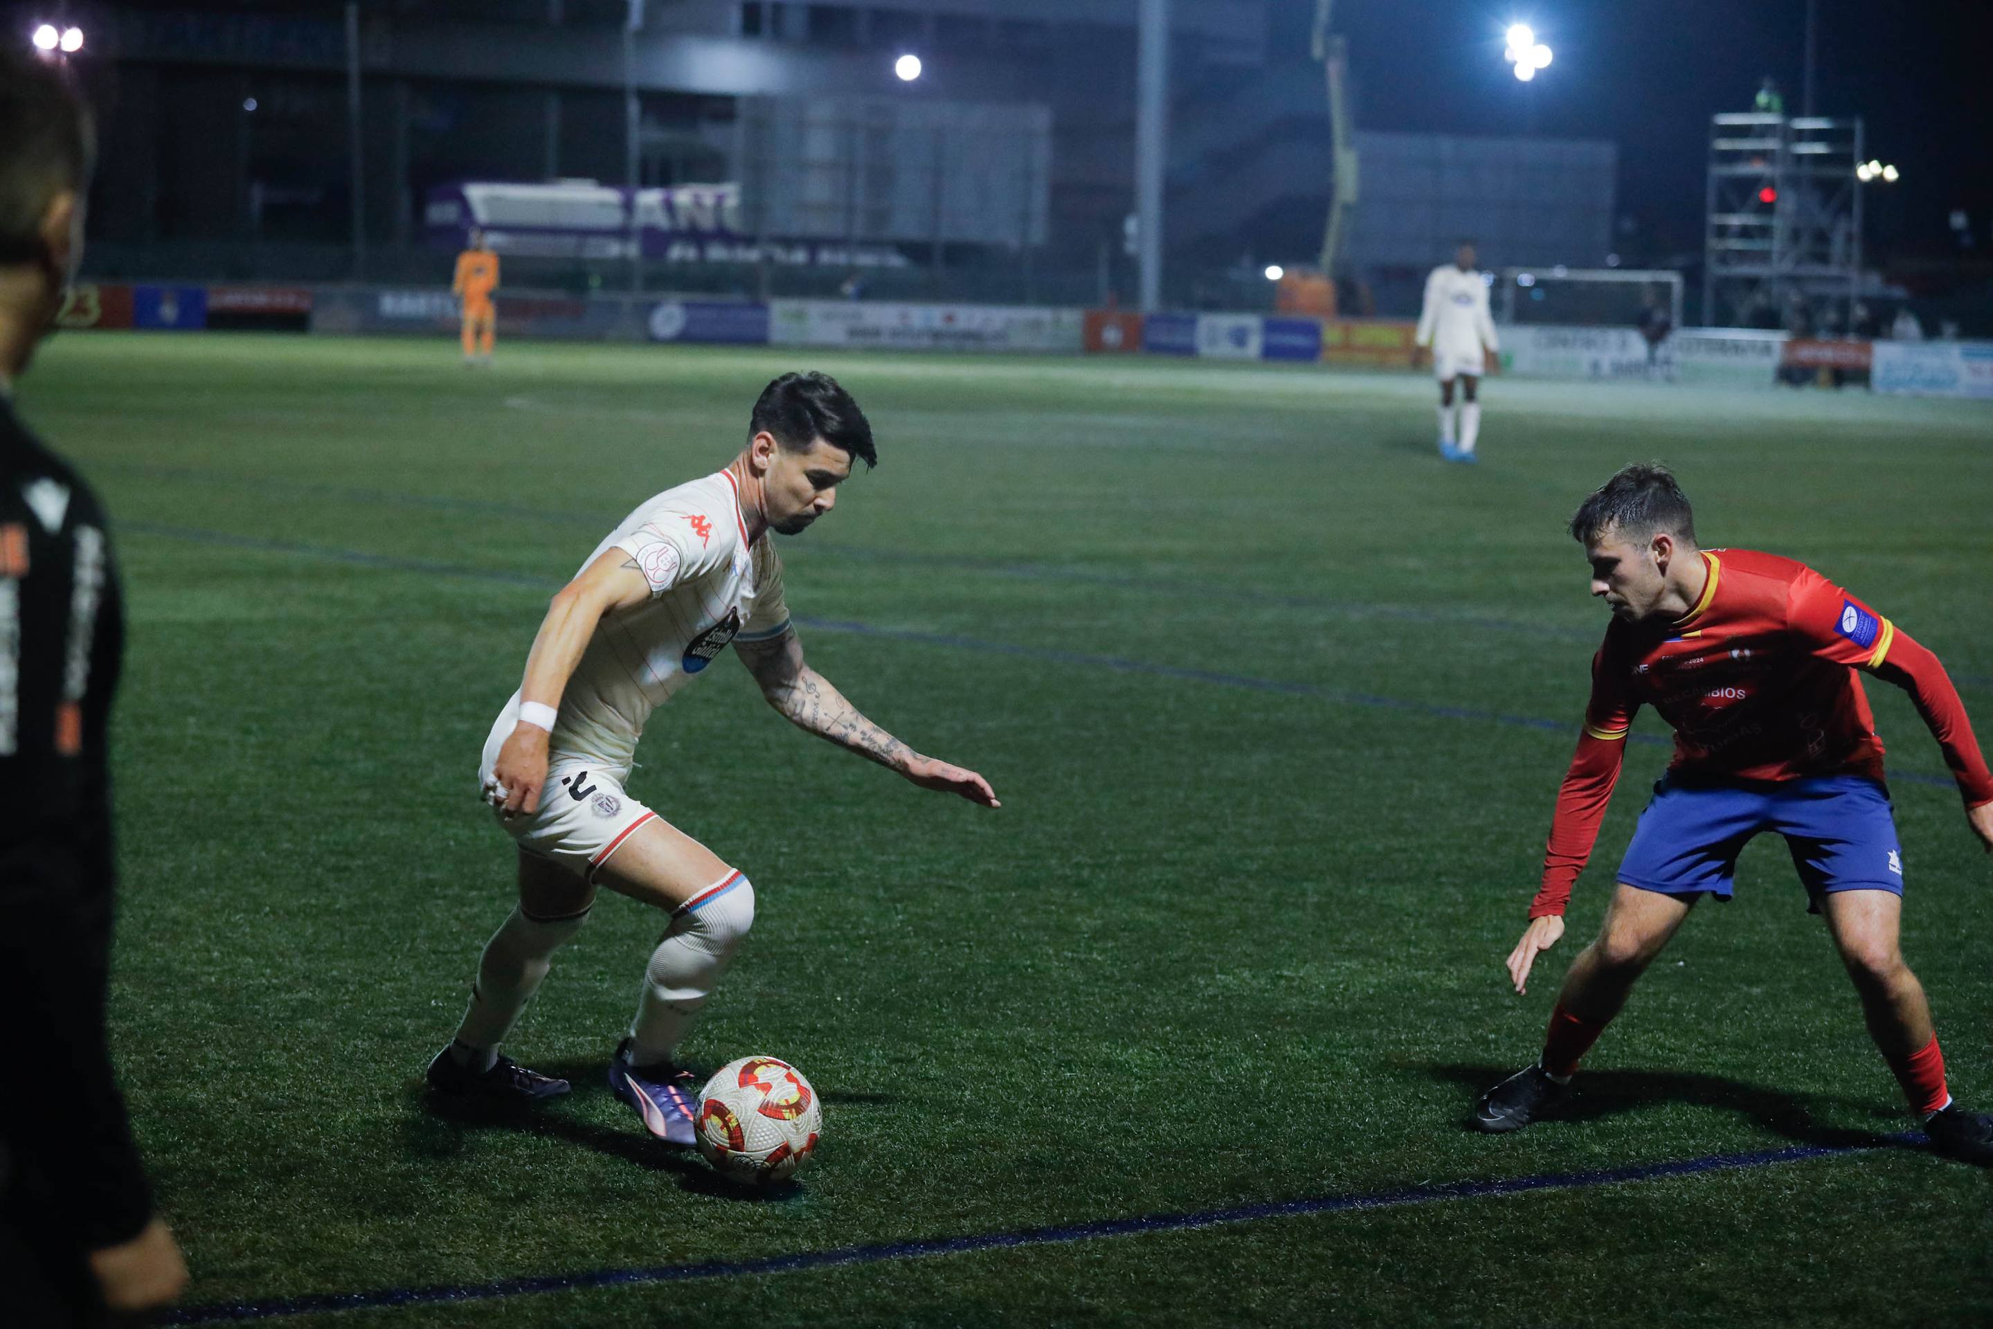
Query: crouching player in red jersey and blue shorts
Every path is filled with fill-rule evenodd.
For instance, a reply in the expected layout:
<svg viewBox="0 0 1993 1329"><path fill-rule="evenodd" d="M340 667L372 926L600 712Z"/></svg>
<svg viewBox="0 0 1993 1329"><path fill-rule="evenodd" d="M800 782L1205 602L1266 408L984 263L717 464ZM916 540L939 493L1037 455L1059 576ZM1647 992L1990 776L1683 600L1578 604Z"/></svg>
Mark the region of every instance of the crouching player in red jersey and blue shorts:
<svg viewBox="0 0 1993 1329"><path fill-rule="evenodd" d="M1578 1058L1694 903L1728 901L1744 843L1776 831L1931 1144L1993 1164L1993 1118L1953 1106L1931 1008L1897 946L1903 857L1857 677L1873 673L1911 695L1973 833L1993 851L1993 773L1937 656L1804 564L1698 548L1688 498L1662 466L1620 470L1584 500L1570 534L1612 624L1592 658L1592 697L1557 797L1543 889L1509 954L1517 992L1537 954L1565 934L1565 903L1598 839L1642 703L1674 725L1674 761L1640 815L1598 938L1565 976L1543 1058L1483 1094L1475 1126L1509 1132L1555 1110Z"/></svg>

